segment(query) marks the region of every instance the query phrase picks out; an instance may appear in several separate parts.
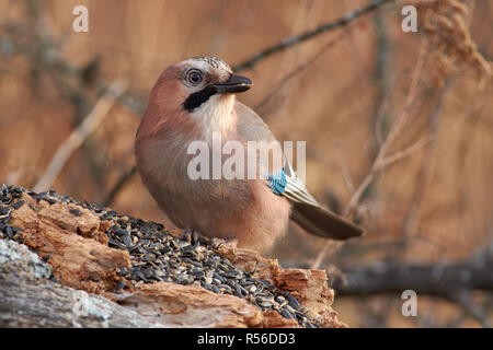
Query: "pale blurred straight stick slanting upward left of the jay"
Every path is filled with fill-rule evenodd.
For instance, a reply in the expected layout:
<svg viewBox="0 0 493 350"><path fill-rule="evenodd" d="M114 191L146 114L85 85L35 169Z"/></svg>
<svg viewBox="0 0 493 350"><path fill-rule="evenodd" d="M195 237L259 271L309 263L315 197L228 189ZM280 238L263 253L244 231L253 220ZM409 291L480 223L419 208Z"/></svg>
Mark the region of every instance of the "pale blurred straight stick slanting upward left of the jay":
<svg viewBox="0 0 493 350"><path fill-rule="evenodd" d="M106 93L98 101L88 117L70 135L70 137L60 144L45 173L36 183L36 185L34 185L34 191L44 191L47 190L49 186L51 186L53 182L60 174L69 158L96 129L104 117L108 114L116 100L125 92L126 89L127 83L123 80L116 80L110 85Z"/></svg>

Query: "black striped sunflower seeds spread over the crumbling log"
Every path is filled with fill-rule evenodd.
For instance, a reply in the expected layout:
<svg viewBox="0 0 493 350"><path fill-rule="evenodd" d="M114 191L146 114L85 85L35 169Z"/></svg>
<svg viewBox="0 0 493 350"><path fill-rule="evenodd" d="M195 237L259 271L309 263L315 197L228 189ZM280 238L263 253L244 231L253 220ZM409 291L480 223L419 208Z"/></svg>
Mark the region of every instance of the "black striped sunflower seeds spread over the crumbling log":
<svg viewBox="0 0 493 350"><path fill-rule="evenodd" d="M275 310L285 318L294 318L301 327L316 328L317 320L306 315L298 301L286 291L279 291L271 281L254 278L250 272L236 268L227 258L215 253L210 240L204 237L176 237L162 224L118 215L114 210L87 201L81 202L54 190L41 194L21 187L2 185L0 187L0 236L22 243L22 230L9 225L10 214L24 203L19 200L22 192L44 200L50 205L67 202L87 208L111 222L106 230L108 245L127 250L131 267L122 268L119 276L136 282L156 281L179 284L197 284L215 293L230 294L244 299L262 311ZM70 213L79 215L78 209ZM125 282L116 285L115 292L125 288Z"/></svg>

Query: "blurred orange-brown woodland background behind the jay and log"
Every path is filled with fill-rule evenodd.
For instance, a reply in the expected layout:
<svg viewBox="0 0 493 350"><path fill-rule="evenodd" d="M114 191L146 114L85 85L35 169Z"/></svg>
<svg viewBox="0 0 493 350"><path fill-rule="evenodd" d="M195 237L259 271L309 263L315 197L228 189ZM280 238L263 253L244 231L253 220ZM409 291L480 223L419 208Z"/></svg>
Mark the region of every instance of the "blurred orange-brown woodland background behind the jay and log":
<svg viewBox="0 0 493 350"><path fill-rule="evenodd" d="M368 3L0 0L0 183L34 188L106 88L125 79L49 188L168 222L131 171L162 69L196 56L238 67ZM409 3L417 33L401 30ZM79 4L88 33L72 30ZM344 272L335 310L352 327L493 324L491 23L493 0L382 1L242 70L254 89L239 98L279 140L307 141L310 191L368 231L331 243L320 265L334 288ZM270 256L310 267L324 245L291 225ZM417 292L416 317L401 313L405 289Z"/></svg>

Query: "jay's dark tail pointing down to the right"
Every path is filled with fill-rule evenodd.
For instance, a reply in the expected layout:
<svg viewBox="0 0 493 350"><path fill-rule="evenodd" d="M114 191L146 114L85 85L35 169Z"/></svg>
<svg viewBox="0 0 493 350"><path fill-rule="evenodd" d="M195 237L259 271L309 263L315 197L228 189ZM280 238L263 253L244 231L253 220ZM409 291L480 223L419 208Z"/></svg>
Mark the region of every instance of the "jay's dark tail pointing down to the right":
<svg viewBox="0 0 493 350"><path fill-rule="evenodd" d="M365 234L365 230L320 206L294 202L291 219L309 233L324 238L348 240Z"/></svg>

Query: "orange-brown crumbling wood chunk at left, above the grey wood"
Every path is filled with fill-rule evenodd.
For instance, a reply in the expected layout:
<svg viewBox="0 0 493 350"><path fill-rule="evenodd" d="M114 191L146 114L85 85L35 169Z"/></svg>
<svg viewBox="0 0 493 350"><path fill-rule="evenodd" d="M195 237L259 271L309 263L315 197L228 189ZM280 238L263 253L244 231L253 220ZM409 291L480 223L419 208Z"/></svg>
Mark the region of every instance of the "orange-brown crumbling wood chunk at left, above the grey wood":
<svg viewBox="0 0 493 350"><path fill-rule="evenodd" d="M107 246L96 215L67 203L37 202L25 194L22 200L24 206L12 212L10 223L23 230L24 243L48 260L62 284L99 294L114 289L121 280L117 269L129 267L130 259L127 252ZM80 214L70 214L71 209Z"/></svg>

